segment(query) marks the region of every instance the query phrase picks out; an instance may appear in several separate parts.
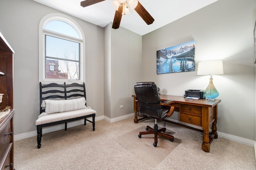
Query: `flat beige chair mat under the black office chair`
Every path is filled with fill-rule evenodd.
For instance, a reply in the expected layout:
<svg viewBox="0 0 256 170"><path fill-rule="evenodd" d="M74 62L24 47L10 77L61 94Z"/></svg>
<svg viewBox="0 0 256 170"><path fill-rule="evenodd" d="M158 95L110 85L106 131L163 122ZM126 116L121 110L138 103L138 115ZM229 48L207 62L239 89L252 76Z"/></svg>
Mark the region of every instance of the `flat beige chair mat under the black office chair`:
<svg viewBox="0 0 256 170"><path fill-rule="evenodd" d="M158 129L161 128L158 127ZM158 166L181 143L181 140L177 138L174 138L174 141L171 142L168 138L158 136L157 147L154 147L154 134L142 135L139 138L138 134L142 131L146 131L146 127L140 127L130 131L115 138L114 141L153 168ZM166 130L166 134L168 135L173 135L174 133L173 131Z"/></svg>

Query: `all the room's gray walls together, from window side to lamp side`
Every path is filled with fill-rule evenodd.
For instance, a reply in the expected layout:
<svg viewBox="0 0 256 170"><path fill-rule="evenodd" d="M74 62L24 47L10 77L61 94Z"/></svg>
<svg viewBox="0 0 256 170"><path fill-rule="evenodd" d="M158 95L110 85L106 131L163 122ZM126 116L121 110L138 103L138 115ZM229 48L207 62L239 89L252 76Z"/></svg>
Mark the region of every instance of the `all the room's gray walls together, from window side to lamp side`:
<svg viewBox="0 0 256 170"><path fill-rule="evenodd" d="M38 26L46 14L62 13L32 0L0 2L0 32L14 54L14 133L36 130L39 114ZM62 13L64 14L64 13ZM68 14L66 14L69 16ZM205 89L208 76L194 72L156 74L156 51L196 41L199 61L222 59L224 75L214 76L222 102L218 131L255 140L255 0L218 0L144 36L124 28L105 29L73 18L86 37L87 102L114 119L133 113L133 86L155 81L161 94L182 96L186 89ZM123 43L126 39L128 42ZM124 105L123 109L119 106ZM104 113L105 112L105 113ZM177 113L172 119L178 119Z"/></svg>

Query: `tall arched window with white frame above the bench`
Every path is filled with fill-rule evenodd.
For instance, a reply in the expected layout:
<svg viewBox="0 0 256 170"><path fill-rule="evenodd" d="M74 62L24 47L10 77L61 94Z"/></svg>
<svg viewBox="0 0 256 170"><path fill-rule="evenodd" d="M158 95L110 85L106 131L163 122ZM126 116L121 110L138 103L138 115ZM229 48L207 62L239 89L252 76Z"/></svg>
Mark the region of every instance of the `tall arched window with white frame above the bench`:
<svg viewBox="0 0 256 170"><path fill-rule="evenodd" d="M39 82L85 81L84 33L62 14L48 14L39 24Z"/></svg>

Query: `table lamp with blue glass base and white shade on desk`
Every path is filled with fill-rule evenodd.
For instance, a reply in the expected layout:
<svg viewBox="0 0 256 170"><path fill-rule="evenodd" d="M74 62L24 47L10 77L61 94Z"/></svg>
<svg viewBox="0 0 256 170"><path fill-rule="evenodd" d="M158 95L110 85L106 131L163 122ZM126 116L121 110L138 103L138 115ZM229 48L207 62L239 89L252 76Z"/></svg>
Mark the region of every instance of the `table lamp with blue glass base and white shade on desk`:
<svg viewBox="0 0 256 170"><path fill-rule="evenodd" d="M222 60L209 60L198 63L197 75L210 75L210 83L204 90L206 100L215 100L219 96L218 90L213 85L213 74L223 74Z"/></svg>

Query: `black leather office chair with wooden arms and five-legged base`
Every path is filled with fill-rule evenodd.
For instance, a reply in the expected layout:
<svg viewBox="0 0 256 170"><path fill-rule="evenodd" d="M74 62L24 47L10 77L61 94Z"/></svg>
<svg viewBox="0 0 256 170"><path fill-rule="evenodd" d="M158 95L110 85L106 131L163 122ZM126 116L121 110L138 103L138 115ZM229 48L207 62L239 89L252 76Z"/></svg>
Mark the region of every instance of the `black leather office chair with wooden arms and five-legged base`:
<svg viewBox="0 0 256 170"><path fill-rule="evenodd" d="M147 126L146 131L140 132L138 137L141 138L141 135L146 134L155 134L153 143L154 147L157 146L158 135L168 137L170 141L173 142L174 137L172 135L165 134L165 127L158 130L156 120L163 120L166 116L172 115L174 111L174 101L168 100L161 102L158 94L158 88L154 82L138 82L134 86L134 91L139 103L140 113L149 118L155 119L154 129Z"/></svg>

